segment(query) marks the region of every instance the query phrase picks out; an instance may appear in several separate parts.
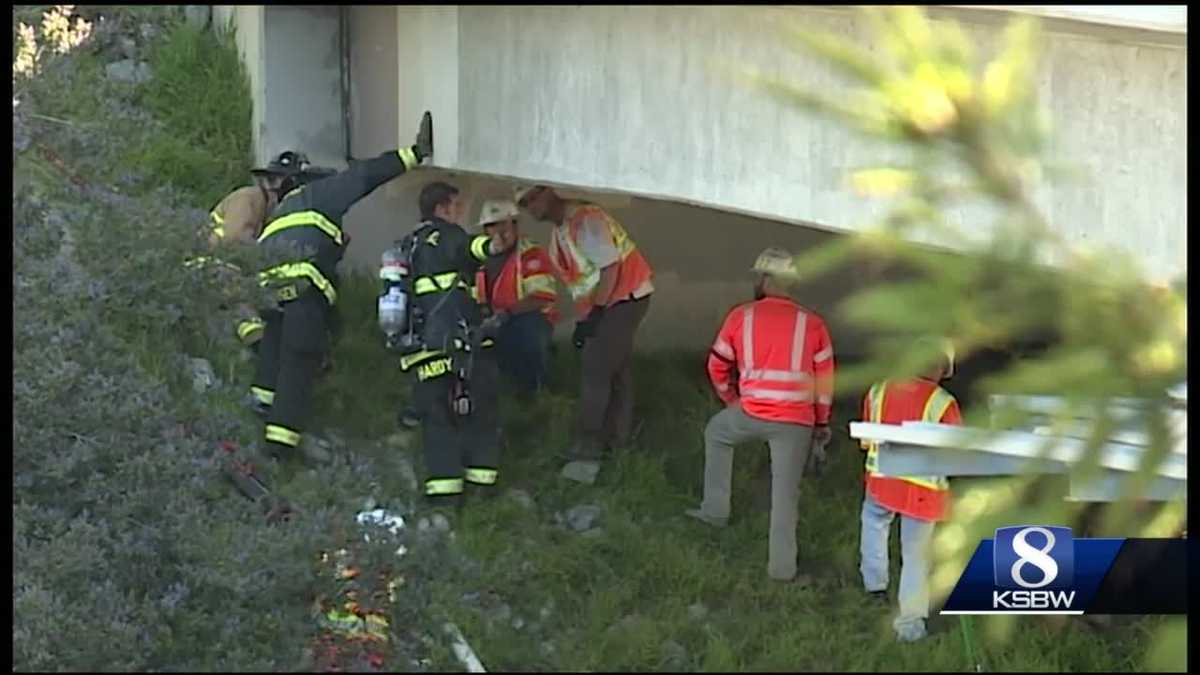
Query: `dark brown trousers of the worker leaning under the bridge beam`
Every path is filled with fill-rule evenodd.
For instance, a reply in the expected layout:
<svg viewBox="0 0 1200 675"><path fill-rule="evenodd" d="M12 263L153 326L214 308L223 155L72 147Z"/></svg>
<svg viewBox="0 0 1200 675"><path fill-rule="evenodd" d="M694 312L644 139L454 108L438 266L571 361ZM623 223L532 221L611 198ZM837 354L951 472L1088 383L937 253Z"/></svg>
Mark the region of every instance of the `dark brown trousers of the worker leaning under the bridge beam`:
<svg viewBox="0 0 1200 675"><path fill-rule="evenodd" d="M647 295L608 307L583 344L580 442L588 449L629 442L634 426L634 334L650 307Z"/></svg>

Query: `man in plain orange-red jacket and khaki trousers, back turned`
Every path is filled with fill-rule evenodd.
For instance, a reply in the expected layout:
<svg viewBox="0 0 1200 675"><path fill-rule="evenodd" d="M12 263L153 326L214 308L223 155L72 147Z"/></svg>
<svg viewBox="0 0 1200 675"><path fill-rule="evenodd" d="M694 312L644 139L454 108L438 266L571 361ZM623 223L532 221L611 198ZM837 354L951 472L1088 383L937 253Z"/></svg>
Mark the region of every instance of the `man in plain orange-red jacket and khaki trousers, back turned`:
<svg viewBox="0 0 1200 675"><path fill-rule="evenodd" d="M704 501L686 514L722 526L730 516L733 447L770 446L770 539L767 574L797 580L796 524L800 478L814 442L829 440L833 342L824 321L787 291L797 279L787 251L755 261L755 300L725 317L708 356L708 377L725 410L704 428ZM734 374L736 371L736 374Z"/></svg>

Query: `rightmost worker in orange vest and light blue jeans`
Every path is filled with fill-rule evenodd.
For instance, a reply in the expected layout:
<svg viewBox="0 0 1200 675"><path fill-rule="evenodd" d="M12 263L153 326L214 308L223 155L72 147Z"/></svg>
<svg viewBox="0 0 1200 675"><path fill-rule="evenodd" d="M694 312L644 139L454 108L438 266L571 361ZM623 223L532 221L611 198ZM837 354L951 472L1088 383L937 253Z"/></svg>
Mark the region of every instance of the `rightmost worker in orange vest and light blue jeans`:
<svg viewBox="0 0 1200 675"><path fill-rule="evenodd" d="M962 424L958 401L938 386L954 374L954 350L932 339L923 340L922 345L934 357L934 365L919 377L871 387L863 399L863 420ZM929 616L929 546L935 522L946 518L949 483L942 476L880 476L877 443L864 441L863 449L866 450L859 566L863 585L872 597L887 601L888 536L899 514L900 615L892 626L901 641L919 640L925 637Z"/></svg>

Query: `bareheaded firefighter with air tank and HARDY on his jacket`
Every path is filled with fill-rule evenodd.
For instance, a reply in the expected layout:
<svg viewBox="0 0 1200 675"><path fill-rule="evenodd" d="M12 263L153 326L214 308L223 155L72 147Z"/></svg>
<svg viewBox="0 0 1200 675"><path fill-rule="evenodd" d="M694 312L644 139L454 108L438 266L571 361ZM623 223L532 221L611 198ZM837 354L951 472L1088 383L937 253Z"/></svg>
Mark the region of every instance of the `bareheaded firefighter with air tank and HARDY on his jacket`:
<svg viewBox="0 0 1200 675"><path fill-rule="evenodd" d="M420 340L400 368L416 372L413 404L424 431L425 496L431 504L460 506L464 483L491 490L499 470L499 371L469 286L498 245L458 225L457 187L431 183L419 202L422 222L409 237Z"/></svg>

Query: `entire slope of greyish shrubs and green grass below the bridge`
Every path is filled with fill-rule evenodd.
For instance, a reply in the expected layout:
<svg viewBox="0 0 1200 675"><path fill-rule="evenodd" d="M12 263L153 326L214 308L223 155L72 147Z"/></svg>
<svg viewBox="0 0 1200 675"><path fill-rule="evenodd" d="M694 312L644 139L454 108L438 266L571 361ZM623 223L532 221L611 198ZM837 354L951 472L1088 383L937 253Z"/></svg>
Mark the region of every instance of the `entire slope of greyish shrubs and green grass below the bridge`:
<svg viewBox="0 0 1200 675"><path fill-rule="evenodd" d="M264 526L208 459L220 438L251 444L262 432L239 404L251 368L220 298L179 265L193 252L190 228L246 180L245 73L228 40L184 26L176 8L83 11L106 16L108 37L38 76L22 106L53 120L26 119L37 144L14 145L13 669L295 669L317 633L312 599L330 590L318 554L358 539L353 515L368 495L409 502L396 461L421 464L415 448L378 442L396 430L407 384L374 327L376 285L347 275L336 369L316 396L312 430L338 430L341 459L272 471L305 513ZM36 22L35 8L20 12ZM145 26L157 35L140 37ZM119 35L139 36L155 71L145 85L104 78ZM41 147L95 190L71 186ZM184 354L209 359L221 383L194 393ZM845 436L829 474L804 486L800 555L820 585L774 586L761 448L739 452L728 528L679 515L698 500L700 436L715 410L700 357L637 360L644 430L590 488L560 479L552 456L568 440L576 368L563 348L553 392L529 410L505 405L502 482L535 508L473 501L449 548L408 542L392 626L425 640L412 657L457 668L444 641L425 638L449 617L493 671L967 667L954 626L900 646L888 616L862 601L860 455ZM604 507L600 536L553 525L581 503ZM364 566L385 549L360 549ZM497 596L523 625L487 621L469 593ZM696 603L706 614L691 619ZM1153 625L1098 635L1021 620L1021 639L986 661L1129 670Z"/></svg>

